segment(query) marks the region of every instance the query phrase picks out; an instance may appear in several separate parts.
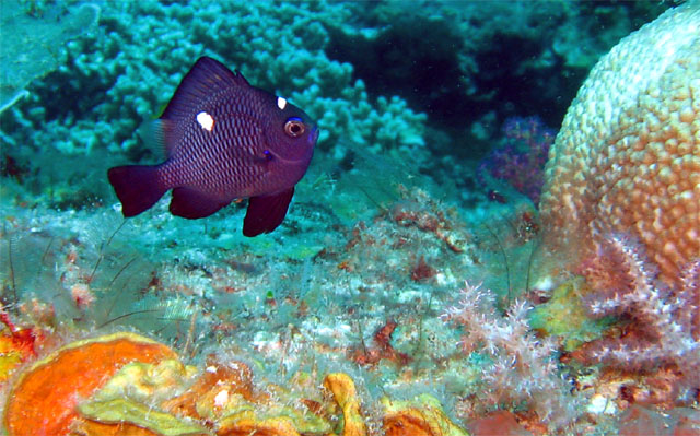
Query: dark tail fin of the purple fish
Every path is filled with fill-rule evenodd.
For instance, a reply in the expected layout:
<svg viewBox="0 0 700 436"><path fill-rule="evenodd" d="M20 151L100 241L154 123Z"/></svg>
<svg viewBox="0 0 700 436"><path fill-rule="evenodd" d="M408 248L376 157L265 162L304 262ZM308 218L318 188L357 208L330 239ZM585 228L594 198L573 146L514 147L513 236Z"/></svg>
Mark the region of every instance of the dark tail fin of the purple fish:
<svg viewBox="0 0 700 436"><path fill-rule="evenodd" d="M167 190L159 181L156 166L115 166L109 168L107 177L121 201L125 217L136 216L150 209Z"/></svg>

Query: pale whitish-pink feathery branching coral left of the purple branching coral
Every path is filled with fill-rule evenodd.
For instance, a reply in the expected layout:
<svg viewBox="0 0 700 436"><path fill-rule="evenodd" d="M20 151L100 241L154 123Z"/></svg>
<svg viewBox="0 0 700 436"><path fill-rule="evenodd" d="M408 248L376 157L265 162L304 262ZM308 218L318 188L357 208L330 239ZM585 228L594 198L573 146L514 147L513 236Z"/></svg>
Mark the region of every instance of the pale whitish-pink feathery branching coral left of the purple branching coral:
<svg viewBox="0 0 700 436"><path fill-rule="evenodd" d="M552 357L555 343L530 330L529 309L527 303L516 301L501 317L489 290L466 283L459 304L442 317L462 327L460 345L466 353L483 350L492 360L483 368L480 400L491 405L525 402L540 420L561 426L575 416L576 402Z"/></svg>

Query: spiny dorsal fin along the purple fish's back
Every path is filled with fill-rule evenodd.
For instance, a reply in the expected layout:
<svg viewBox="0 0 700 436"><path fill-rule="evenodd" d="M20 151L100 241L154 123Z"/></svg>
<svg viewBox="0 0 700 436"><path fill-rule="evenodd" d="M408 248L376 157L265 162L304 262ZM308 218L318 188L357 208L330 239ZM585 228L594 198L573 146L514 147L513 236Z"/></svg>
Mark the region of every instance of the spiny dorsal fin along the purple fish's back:
<svg viewBox="0 0 700 436"><path fill-rule="evenodd" d="M160 117L164 122L155 123L158 129L163 130L155 137L165 140L168 155L182 137L183 126L191 122L198 113L206 109L212 97L231 87L250 87L250 84L240 72L234 73L223 63L207 56L195 62Z"/></svg>

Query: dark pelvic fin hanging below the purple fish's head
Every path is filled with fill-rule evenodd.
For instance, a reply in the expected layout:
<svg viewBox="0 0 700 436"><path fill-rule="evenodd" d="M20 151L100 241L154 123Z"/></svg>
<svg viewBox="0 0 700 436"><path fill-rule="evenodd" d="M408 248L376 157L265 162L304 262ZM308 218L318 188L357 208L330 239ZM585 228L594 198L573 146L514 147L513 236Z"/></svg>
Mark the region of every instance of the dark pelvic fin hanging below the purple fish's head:
<svg viewBox="0 0 700 436"><path fill-rule="evenodd" d="M248 210L243 220L243 235L252 237L270 233L284 220L294 187L271 196L250 197Z"/></svg>

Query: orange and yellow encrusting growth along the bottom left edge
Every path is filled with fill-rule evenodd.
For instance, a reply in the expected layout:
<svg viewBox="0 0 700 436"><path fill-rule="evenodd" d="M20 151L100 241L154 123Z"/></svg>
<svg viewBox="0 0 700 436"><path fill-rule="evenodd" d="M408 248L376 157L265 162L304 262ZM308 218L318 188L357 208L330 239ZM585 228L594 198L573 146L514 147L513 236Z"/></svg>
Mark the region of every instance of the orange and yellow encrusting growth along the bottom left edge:
<svg viewBox="0 0 700 436"><path fill-rule="evenodd" d="M303 386L317 390L305 373L285 387L254 384L242 362L210 356L198 370L161 343L114 333L75 341L24 368L3 423L9 436L370 434L349 375L326 375L326 392ZM382 403L392 436L467 434L430 396Z"/></svg>

